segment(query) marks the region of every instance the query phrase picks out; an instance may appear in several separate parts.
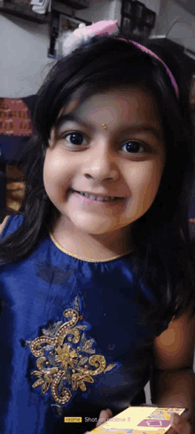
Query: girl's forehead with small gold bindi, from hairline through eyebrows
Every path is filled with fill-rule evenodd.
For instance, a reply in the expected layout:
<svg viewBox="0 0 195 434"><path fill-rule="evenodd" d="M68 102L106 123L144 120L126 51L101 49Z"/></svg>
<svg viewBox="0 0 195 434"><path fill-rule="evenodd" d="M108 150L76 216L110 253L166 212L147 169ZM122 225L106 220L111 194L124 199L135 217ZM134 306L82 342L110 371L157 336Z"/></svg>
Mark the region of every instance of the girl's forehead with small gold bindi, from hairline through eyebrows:
<svg viewBox="0 0 195 434"><path fill-rule="evenodd" d="M77 92L74 99L61 109L54 128L59 131L66 122L76 122L83 128L92 130L96 126L101 126L104 130L117 127L121 132L136 131L136 128L141 131L145 126L145 131L151 130L160 139L162 130L156 108L151 91L141 88L126 89L126 94L124 89L96 93L82 99L82 104L81 94L78 95Z"/></svg>

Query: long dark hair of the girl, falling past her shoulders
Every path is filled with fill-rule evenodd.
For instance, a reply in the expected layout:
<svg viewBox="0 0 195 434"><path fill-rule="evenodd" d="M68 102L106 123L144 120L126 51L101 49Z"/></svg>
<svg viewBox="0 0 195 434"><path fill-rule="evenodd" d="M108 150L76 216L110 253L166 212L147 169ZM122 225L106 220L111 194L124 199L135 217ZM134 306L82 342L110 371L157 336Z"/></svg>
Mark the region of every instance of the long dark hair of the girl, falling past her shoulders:
<svg viewBox="0 0 195 434"><path fill-rule="evenodd" d="M132 225L135 245L134 268L140 282L161 291L160 308L141 309L142 320L159 321L195 312L195 272L188 212L191 201L194 159L194 128L190 107L191 76L183 61L170 55L152 39L132 36L162 59L175 76L180 97L165 67L158 59L117 36L95 36L64 59L59 59L37 92L33 114L34 135L27 143L21 162L25 193L20 210L20 227L0 241L0 262L10 264L29 255L48 235L59 217L43 185L43 163L51 128L58 114L78 91L82 100L123 84L147 86L157 101L164 134L166 164L152 206ZM122 36L123 37L123 36ZM156 315L157 314L157 315Z"/></svg>

